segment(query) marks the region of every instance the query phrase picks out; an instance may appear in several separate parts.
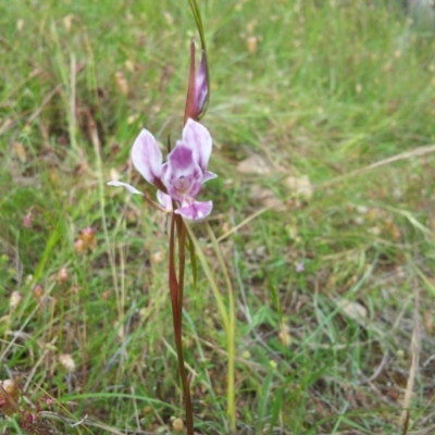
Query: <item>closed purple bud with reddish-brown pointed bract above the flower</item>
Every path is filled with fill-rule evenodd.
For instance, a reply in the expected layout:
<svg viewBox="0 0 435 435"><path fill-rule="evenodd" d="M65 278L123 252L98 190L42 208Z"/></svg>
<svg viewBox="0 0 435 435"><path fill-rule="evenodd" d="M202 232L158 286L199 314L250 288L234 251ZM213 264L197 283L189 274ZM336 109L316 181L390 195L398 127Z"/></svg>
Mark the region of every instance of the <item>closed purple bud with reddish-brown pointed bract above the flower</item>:
<svg viewBox="0 0 435 435"><path fill-rule="evenodd" d="M195 64L195 42L190 42L190 73L189 86L187 88L186 109L184 112L184 123L190 117L198 121L202 117L209 102L209 75L207 67L206 51L202 50L201 63L198 71Z"/></svg>

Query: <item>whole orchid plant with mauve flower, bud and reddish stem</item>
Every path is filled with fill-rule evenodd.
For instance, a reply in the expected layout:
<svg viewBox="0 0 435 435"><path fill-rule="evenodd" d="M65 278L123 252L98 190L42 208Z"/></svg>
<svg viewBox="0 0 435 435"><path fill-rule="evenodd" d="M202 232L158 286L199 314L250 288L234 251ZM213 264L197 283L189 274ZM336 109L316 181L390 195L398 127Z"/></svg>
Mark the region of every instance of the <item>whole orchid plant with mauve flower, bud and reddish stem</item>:
<svg viewBox="0 0 435 435"><path fill-rule="evenodd" d="M190 44L190 74L187 89L184 128L182 139L177 140L173 150L169 141L169 154L163 163L154 136L142 129L136 138L130 158L136 170L142 177L157 187L158 202L150 200L136 187L120 181L111 181L110 186L122 186L132 194L140 195L161 211L171 216L169 240L169 286L172 302L174 338L177 351L178 370L183 384L186 410L186 428L188 435L194 435L194 417L190 400L189 378L186 374L183 353L183 293L185 276L186 239L190 238L190 253L195 261L195 250L191 236L187 234L187 221L201 221L210 215L212 201L198 201L202 185L215 178L216 175L208 171L208 163L212 151L212 138L209 130L198 121L206 113L209 100L209 74L207 52L203 41L203 30L196 1L190 1L194 15L201 36L202 58L198 71L195 65L195 42ZM175 266L175 240L177 240L177 265Z"/></svg>

